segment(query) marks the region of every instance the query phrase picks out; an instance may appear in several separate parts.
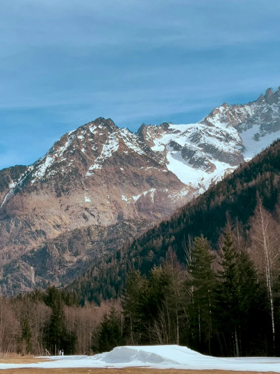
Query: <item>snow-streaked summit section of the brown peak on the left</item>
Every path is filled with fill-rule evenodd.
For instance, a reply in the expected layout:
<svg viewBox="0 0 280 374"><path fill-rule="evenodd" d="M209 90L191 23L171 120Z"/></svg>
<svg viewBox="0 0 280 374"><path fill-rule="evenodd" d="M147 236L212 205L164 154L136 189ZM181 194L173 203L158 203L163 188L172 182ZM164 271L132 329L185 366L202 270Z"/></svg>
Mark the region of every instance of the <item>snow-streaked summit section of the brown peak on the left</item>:
<svg viewBox="0 0 280 374"><path fill-rule="evenodd" d="M32 165L29 179L33 184L52 179L57 174L67 176L75 169L87 178L101 170L115 153L124 158L129 155L137 158L137 155L147 155L145 148L136 134L119 129L110 118L98 118L59 139Z"/></svg>

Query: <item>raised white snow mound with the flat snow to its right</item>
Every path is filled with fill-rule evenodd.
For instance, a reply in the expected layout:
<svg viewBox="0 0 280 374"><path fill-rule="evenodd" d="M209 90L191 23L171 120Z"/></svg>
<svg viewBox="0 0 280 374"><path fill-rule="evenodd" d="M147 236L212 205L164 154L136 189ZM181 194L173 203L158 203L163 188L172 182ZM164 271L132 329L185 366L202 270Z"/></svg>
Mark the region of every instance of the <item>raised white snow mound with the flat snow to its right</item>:
<svg viewBox="0 0 280 374"><path fill-rule="evenodd" d="M111 352L92 356L96 367L136 367L177 369L220 369L280 372L280 359L267 357L218 358L205 356L187 347L139 346L117 347Z"/></svg>

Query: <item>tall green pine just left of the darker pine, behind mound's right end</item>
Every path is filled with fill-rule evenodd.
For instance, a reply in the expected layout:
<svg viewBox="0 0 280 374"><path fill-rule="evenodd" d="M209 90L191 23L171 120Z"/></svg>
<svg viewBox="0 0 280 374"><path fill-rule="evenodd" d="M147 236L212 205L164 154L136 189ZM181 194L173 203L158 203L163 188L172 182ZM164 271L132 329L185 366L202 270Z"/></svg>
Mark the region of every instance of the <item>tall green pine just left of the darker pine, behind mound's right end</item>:
<svg viewBox="0 0 280 374"><path fill-rule="evenodd" d="M189 277L186 281L191 298L189 314L192 328L195 331L202 351L208 349L211 354L211 337L213 335L213 304L216 276L213 270L214 256L211 254L209 241L201 235L194 239L189 261ZM204 347L204 343L208 347Z"/></svg>

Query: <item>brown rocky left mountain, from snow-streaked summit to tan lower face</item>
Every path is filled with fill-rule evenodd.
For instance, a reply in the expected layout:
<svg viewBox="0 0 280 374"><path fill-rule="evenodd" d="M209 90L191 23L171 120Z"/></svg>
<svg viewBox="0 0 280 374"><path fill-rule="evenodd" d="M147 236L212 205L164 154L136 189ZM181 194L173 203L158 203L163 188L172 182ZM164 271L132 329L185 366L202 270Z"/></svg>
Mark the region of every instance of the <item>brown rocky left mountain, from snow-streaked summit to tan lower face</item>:
<svg viewBox="0 0 280 374"><path fill-rule="evenodd" d="M137 135L98 118L64 135L10 185L0 211L2 250L25 252L89 225L160 220L184 188Z"/></svg>

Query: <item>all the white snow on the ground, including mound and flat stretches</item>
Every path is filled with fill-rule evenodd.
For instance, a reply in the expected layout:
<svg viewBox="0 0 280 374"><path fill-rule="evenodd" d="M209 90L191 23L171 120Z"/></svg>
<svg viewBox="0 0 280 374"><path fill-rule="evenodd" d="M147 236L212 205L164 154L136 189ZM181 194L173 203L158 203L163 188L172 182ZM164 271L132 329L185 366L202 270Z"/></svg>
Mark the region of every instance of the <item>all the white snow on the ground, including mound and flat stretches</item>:
<svg viewBox="0 0 280 374"><path fill-rule="evenodd" d="M111 352L95 356L48 357L33 364L0 364L0 369L12 368L68 368L68 367L136 367L159 369L222 369L280 372L279 357L216 358L204 356L186 347L147 346L117 347Z"/></svg>

